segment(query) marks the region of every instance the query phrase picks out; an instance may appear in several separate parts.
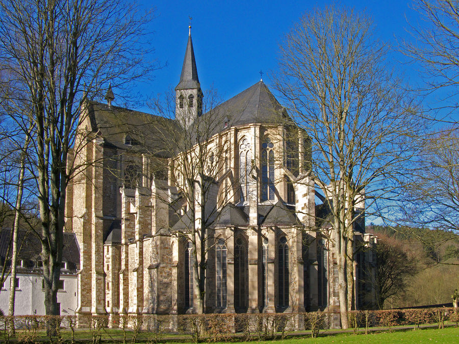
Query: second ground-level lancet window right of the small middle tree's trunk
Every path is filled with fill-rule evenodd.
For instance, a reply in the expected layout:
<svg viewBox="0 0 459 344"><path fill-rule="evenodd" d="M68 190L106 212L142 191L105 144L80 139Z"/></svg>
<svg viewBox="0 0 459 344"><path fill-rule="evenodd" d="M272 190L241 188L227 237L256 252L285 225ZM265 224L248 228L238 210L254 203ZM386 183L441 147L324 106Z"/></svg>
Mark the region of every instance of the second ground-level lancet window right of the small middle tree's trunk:
<svg viewBox="0 0 459 344"><path fill-rule="evenodd" d="M247 307L247 246L245 241L238 237L234 246L234 306Z"/></svg>

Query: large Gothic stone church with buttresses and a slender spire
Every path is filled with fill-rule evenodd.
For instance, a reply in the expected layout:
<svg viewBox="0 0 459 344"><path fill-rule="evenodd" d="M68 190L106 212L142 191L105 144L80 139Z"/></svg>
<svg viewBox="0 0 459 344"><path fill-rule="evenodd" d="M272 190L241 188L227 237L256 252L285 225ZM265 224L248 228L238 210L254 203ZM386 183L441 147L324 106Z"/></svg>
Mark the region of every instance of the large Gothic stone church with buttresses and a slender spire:
<svg viewBox="0 0 459 344"><path fill-rule="evenodd" d="M115 107L111 87L106 99L82 104L66 200L81 255L77 314L193 313L195 257L206 313L339 309L311 143L262 80L206 109L190 33L175 116ZM356 225L354 243L375 241ZM373 259L355 254L358 307L374 293Z"/></svg>

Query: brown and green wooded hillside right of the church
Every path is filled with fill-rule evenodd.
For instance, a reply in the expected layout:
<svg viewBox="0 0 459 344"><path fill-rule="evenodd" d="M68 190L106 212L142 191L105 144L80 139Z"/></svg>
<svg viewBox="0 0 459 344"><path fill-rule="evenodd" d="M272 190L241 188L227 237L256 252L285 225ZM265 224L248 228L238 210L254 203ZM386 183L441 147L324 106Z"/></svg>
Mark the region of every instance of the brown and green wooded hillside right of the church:
<svg viewBox="0 0 459 344"><path fill-rule="evenodd" d="M384 308L452 303L451 295L459 288L458 235L427 228L373 224L366 230L378 235L380 244L393 248L390 252L398 252L397 249L404 252L406 256L398 261L398 273L411 272L401 276L401 291L388 297ZM391 269L396 270L397 266Z"/></svg>

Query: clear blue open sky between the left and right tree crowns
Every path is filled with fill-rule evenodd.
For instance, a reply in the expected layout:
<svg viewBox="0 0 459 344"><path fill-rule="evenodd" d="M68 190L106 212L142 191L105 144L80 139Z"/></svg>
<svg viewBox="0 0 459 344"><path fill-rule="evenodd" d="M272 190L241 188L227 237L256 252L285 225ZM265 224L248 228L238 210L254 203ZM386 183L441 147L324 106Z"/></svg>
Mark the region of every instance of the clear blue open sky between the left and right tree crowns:
<svg viewBox="0 0 459 344"><path fill-rule="evenodd" d="M381 40L396 45L395 37L409 37L408 24L418 21L413 1L149 1L156 19L151 23L154 57L166 67L155 72L154 80L138 85L143 96L158 95L179 82L186 42L188 17L202 89L214 88L229 99L260 80L270 86L270 73L277 66L278 43L304 12L336 4L366 11ZM419 82L414 66L401 65L404 57L394 53L394 66L405 71L412 83ZM115 90L116 92L116 90ZM145 109L142 109L145 110Z"/></svg>

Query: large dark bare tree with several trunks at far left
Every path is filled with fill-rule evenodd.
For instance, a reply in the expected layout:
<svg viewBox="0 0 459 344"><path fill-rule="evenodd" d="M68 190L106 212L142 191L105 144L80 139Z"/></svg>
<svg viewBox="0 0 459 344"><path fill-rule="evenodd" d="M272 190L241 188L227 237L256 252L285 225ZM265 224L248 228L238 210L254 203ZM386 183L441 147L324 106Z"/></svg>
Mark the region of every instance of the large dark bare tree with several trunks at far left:
<svg viewBox="0 0 459 344"><path fill-rule="evenodd" d="M12 88L2 105L10 125L33 143L28 161L40 209L46 314L57 312L66 188L77 168L69 150L85 142L75 146L76 128L84 120L79 104L103 94L109 82L123 89L152 70L144 55L149 45L143 44L150 19L151 12L139 13L121 0L0 4L1 68ZM25 116L14 109L21 102L31 109Z"/></svg>

